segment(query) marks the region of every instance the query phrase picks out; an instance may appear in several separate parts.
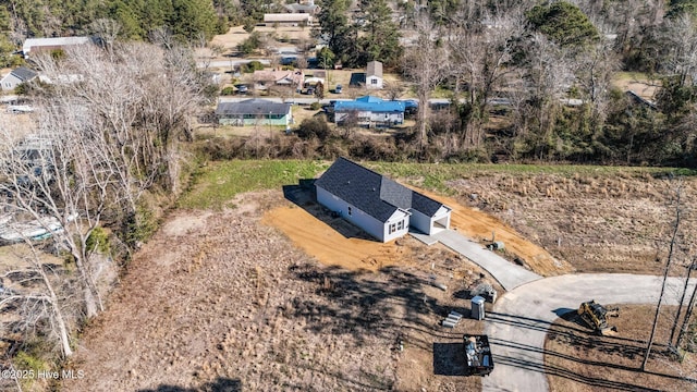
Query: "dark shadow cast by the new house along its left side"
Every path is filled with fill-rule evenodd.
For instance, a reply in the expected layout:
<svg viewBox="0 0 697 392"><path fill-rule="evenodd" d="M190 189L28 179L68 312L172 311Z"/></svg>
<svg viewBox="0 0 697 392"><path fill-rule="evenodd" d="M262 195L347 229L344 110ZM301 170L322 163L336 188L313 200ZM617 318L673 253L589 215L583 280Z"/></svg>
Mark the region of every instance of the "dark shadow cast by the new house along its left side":
<svg viewBox="0 0 697 392"><path fill-rule="evenodd" d="M302 179L298 185L283 185L283 196L289 201L304 209L307 213L325 222L345 238L360 238L376 242L374 237L360 228L350 223L347 220L317 203L315 179Z"/></svg>

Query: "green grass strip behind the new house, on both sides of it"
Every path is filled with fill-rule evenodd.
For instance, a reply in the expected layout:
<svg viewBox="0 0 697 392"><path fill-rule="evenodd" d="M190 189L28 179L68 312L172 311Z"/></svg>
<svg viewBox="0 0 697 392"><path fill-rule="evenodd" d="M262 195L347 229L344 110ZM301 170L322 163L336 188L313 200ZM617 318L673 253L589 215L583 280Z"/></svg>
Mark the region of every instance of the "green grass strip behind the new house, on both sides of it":
<svg viewBox="0 0 697 392"><path fill-rule="evenodd" d="M302 179L315 179L329 168L330 161L313 160L233 160L210 162L201 169L191 188L179 201L182 208L222 208L235 195L252 191L281 189ZM492 173L510 174L575 174L602 177L606 175L663 176L697 175L697 171L671 168L626 168L568 164L480 164L480 163L393 163L362 162L365 167L406 182L418 181L427 189L448 194L448 181Z"/></svg>

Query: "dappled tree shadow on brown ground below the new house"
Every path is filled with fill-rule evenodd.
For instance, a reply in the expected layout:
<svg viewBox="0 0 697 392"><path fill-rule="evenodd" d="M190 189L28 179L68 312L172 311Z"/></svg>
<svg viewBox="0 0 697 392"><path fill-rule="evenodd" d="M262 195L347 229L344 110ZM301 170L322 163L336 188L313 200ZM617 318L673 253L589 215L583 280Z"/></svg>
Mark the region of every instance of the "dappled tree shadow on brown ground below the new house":
<svg viewBox="0 0 697 392"><path fill-rule="evenodd" d="M435 329L439 317L451 310L464 314L464 307L443 306L428 297L423 287L428 280L399 268L388 267L381 273L347 271L338 267L293 266L297 279L315 284L321 298L295 297L289 308L280 309L292 318L304 319L306 328L317 333L352 335L357 344L366 336L394 342L404 332L427 333L431 338L453 339L453 332ZM429 350L429 342L408 342Z"/></svg>

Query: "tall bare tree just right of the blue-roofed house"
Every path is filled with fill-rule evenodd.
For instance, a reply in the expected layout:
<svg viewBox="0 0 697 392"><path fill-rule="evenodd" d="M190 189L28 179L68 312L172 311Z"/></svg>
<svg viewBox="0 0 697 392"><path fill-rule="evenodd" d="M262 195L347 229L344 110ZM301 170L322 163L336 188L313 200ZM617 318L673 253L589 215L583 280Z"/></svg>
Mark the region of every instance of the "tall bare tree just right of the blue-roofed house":
<svg viewBox="0 0 697 392"><path fill-rule="evenodd" d="M420 15L416 23L416 44L406 50L404 73L416 87L418 98L418 140L423 150L428 145L428 111L430 94L447 75L447 51L439 46L433 23Z"/></svg>

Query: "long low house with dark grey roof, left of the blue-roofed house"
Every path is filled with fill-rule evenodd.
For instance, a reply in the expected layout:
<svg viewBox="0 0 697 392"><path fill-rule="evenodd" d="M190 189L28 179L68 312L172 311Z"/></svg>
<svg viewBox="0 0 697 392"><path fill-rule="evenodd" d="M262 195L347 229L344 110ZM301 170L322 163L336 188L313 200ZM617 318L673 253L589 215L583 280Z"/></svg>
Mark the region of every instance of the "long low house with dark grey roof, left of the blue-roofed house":
<svg viewBox="0 0 697 392"><path fill-rule="evenodd" d="M288 128L293 123L291 108L291 103L254 98L241 102L220 102L216 108L216 117L222 125L277 125Z"/></svg>

